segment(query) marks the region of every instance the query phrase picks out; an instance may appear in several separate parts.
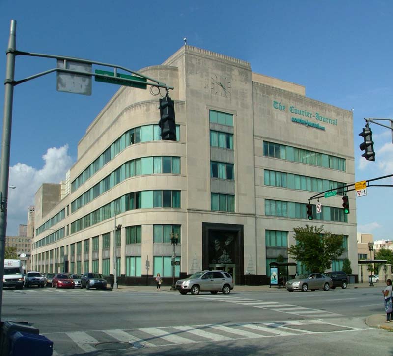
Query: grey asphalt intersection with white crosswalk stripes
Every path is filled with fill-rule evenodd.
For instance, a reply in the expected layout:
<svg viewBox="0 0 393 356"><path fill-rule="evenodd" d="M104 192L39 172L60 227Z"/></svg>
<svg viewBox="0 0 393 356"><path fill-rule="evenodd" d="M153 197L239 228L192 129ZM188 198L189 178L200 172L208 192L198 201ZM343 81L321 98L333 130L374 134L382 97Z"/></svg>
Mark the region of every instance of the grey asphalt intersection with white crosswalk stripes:
<svg viewBox="0 0 393 356"><path fill-rule="evenodd" d="M393 355L391 334L364 322L383 313L382 287L199 296L11 289L2 320L31 323L54 341L54 355Z"/></svg>

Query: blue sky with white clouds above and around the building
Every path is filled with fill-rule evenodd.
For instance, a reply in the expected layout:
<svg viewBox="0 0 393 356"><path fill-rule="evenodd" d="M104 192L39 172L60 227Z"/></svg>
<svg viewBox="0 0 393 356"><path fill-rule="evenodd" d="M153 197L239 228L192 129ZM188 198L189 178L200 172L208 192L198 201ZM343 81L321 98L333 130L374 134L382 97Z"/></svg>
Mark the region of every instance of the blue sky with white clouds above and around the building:
<svg viewBox="0 0 393 356"><path fill-rule="evenodd" d="M393 173L391 131L371 125L375 162L361 157L358 136L364 117L393 117L392 18L391 0L2 0L0 78L11 19L20 51L132 70L161 64L187 37L189 45L249 61L254 72L305 85L312 99L354 109L356 180L367 180ZM51 59L17 57L15 78L55 66ZM9 192L8 235L26 223L41 183L64 179L78 141L117 89L93 82L91 96L61 93L56 74L15 87L9 183L17 188ZM1 112L3 98L1 85ZM358 231L390 239L391 202L392 188L369 188L357 199Z"/></svg>

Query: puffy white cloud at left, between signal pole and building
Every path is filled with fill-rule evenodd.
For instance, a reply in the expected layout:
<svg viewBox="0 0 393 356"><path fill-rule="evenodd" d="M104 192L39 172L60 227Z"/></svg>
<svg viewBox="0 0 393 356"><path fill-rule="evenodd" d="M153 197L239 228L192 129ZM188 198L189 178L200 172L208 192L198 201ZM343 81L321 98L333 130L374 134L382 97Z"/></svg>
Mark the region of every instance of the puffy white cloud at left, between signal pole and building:
<svg viewBox="0 0 393 356"><path fill-rule="evenodd" d="M17 163L10 167L8 190L7 235L17 235L19 224L27 223L28 206L34 205L34 195L42 183L60 183L72 165L68 145L48 148L42 156L41 169Z"/></svg>

